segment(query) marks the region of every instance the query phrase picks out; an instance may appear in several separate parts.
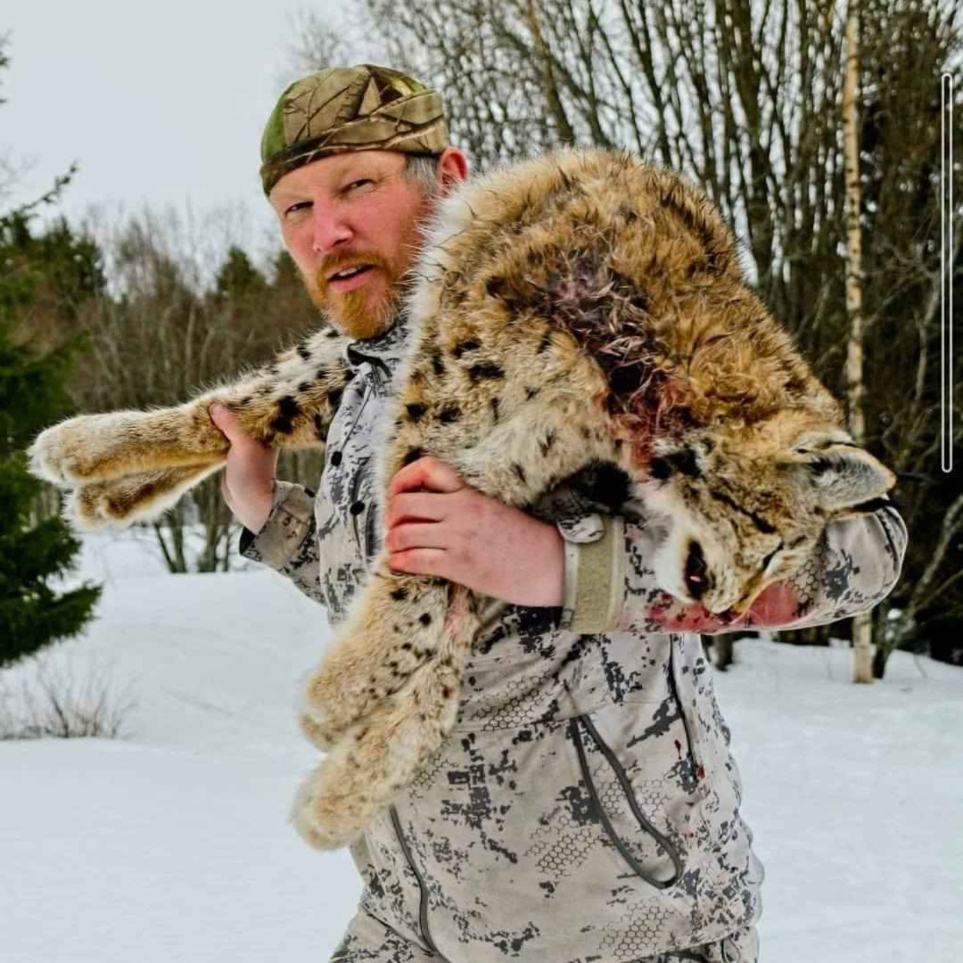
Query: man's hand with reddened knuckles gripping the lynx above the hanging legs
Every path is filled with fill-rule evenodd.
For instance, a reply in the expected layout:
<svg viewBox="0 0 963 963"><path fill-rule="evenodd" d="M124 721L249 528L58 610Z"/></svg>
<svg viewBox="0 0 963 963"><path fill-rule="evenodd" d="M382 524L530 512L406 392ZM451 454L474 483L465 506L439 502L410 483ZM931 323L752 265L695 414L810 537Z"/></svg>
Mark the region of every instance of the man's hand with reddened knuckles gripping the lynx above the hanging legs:
<svg viewBox="0 0 963 963"><path fill-rule="evenodd" d="M391 480L385 528L396 572L438 576L513 605L562 603L556 527L482 495L437 458L419 458Z"/></svg>

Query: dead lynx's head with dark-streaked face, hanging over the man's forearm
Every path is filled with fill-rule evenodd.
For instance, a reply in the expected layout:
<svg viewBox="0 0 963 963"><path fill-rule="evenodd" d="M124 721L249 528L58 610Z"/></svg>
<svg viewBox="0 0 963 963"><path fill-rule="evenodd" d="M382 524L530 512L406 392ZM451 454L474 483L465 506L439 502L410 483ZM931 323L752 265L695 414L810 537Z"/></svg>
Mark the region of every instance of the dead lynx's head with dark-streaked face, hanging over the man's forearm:
<svg viewBox="0 0 963 963"><path fill-rule="evenodd" d="M741 614L793 574L830 521L893 486L892 472L845 431L800 421L788 412L655 443L639 494L664 524L653 560L664 589Z"/></svg>

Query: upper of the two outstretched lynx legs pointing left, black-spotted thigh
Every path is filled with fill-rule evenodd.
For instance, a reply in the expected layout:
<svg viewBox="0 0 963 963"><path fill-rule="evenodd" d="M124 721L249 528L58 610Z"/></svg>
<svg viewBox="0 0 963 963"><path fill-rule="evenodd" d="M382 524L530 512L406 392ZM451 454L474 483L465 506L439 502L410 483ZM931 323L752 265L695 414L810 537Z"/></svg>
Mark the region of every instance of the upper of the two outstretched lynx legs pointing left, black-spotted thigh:
<svg viewBox="0 0 963 963"><path fill-rule="evenodd" d="M80 415L39 434L30 449L36 475L72 487L163 468L221 460L227 440L211 422L220 403L236 411L248 434L269 445L323 443L349 380L340 339L313 335L272 365L195 400L154 411Z"/></svg>

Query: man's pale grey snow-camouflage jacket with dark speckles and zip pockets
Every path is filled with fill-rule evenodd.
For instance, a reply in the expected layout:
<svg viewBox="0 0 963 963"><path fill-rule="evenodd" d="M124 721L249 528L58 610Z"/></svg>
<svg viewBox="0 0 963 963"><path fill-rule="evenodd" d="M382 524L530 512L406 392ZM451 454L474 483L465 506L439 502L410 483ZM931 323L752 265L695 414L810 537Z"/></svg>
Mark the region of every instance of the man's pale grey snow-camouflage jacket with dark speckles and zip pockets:
<svg viewBox="0 0 963 963"><path fill-rule="evenodd" d="M335 625L377 554L373 459L404 333L347 347L354 377L317 496L278 482L269 520L243 539ZM415 953L399 959L622 963L721 941L760 914L739 771L690 634L707 627L653 608L644 527L572 512L558 524L563 608L487 604L455 731L351 847L356 921L402 937ZM795 578L792 624L871 608L905 538L890 507L834 523ZM344 958L382 959L347 951L355 930Z"/></svg>

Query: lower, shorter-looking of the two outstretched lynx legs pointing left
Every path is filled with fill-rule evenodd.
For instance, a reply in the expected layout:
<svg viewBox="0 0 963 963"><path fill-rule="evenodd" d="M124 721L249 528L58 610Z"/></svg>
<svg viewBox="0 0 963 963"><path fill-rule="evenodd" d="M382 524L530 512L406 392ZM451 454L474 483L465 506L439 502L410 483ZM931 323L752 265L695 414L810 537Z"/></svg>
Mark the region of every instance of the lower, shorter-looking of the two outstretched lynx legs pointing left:
<svg viewBox="0 0 963 963"><path fill-rule="evenodd" d="M221 468L222 461L189 468L162 468L110 481L91 481L70 493L65 514L77 528L94 532L126 528L174 506L187 491Z"/></svg>

